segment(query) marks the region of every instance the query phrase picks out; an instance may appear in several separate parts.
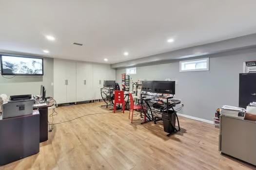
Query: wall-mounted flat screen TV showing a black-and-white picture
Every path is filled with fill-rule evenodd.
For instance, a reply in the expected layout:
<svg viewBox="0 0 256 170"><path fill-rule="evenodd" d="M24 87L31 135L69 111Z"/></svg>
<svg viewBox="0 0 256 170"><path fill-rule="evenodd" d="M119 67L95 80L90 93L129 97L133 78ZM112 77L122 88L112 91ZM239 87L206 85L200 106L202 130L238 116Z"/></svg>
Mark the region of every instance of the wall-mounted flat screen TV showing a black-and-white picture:
<svg viewBox="0 0 256 170"><path fill-rule="evenodd" d="M0 55L2 75L43 75L43 59Z"/></svg>

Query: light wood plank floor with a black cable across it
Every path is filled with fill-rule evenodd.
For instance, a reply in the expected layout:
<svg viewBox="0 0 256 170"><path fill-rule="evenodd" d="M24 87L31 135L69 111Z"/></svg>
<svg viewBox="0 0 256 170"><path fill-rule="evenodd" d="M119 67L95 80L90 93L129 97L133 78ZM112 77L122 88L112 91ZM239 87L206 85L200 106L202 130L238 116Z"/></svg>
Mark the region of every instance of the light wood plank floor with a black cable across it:
<svg viewBox="0 0 256 170"><path fill-rule="evenodd" d="M162 123L130 123L128 112L107 113L102 102L61 106L40 153L0 170L250 170L255 169L218 152L214 125L179 117L181 132L167 137ZM51 121L51 119L49 119Z"/></svg>

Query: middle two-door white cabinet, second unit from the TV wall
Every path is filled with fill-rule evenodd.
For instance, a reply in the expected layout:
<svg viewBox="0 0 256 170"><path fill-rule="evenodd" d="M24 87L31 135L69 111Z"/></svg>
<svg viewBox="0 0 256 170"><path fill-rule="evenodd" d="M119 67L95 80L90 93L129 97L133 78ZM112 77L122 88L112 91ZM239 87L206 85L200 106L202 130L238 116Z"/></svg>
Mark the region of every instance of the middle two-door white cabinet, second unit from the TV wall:
<svg viewBox="0 0 256 170"><path fill-rule="evenodd" d="M77 63L77 102L94 99L93 64Z"/></svg>

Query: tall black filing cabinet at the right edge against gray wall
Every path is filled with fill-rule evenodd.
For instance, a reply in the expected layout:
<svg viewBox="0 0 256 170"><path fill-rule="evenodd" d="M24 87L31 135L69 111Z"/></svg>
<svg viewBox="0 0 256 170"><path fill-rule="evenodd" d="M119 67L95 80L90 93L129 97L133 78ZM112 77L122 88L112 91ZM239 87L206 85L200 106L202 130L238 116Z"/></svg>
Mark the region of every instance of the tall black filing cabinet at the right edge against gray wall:
<svg viewBox="0 0 256 170"><path fill-rule="evenodd" d="M239 74L239 107L256 102L256 73Z"/></svg>

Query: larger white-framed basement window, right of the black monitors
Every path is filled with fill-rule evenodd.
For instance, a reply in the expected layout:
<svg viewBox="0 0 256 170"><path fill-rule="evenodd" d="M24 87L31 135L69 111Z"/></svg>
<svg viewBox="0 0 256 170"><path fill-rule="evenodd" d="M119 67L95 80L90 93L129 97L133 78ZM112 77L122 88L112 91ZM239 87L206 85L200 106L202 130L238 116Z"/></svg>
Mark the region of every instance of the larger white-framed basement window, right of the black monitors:
<svg viewBox="0 0 256 170"><path fill-rule="evenodd" d="M209 71L209 58L200 58L179 62L179 72Z"/></svg>

